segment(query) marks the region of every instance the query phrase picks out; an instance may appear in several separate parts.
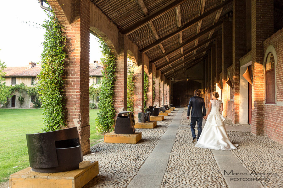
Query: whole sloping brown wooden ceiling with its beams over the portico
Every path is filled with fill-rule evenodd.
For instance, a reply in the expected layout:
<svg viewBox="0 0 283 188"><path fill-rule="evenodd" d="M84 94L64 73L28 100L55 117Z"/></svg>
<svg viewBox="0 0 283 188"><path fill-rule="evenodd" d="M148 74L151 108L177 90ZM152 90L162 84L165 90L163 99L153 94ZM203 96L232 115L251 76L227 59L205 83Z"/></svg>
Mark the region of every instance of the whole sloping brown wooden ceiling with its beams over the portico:
<svg viewBox="0 0 283 188"><path fill-rule="evenodd" d="M232 0L91 0L168 78L207 55Z"/></svg>

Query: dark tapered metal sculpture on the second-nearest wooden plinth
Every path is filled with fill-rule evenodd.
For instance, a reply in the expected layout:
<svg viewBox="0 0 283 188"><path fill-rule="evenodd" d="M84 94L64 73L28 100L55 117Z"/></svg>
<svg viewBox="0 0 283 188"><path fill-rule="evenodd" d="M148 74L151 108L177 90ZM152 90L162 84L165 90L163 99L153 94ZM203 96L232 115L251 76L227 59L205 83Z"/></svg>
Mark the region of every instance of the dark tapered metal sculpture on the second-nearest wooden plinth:
<svg viewBox="0 0 283 188"><path fill-rule="evenodd" d="M134 134L135 133L134 113L130 111L121 111L118 113L114 133L116 134Z"/></svg>

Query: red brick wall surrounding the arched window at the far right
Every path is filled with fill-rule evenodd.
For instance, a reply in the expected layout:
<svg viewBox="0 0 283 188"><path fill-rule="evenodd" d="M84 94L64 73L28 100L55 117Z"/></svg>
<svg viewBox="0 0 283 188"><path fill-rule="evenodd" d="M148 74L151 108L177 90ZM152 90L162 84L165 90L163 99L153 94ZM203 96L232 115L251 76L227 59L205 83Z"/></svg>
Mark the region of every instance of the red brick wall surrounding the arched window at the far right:
<svg viewBox="0 0 283 188"><path fill-rule="evenodd" d="M264 136L275 142L283 144L283 29L277 31L263 43L264 53L267 47L273 45L276 50L277 64L275 65L276 75L276 105L264 105ZM276 62L275 62L276 63ZM264 87L263 87L264 88ZM265 93L264 93L265 96Z"/></svg>

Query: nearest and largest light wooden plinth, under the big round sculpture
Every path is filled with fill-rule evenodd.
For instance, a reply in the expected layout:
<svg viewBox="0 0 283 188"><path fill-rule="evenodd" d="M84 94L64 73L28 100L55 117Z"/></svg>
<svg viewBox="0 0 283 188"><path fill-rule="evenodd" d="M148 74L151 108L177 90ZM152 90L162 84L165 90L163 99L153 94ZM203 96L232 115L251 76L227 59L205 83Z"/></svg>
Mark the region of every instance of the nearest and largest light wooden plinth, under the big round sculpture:
<svg viewBox="0 0 283 188"><path fill-rule="evenodd" d="M10 175L10 188L81 188L98 174L98 161L82 161L67 172L40 173L28 167Z"/></svg>

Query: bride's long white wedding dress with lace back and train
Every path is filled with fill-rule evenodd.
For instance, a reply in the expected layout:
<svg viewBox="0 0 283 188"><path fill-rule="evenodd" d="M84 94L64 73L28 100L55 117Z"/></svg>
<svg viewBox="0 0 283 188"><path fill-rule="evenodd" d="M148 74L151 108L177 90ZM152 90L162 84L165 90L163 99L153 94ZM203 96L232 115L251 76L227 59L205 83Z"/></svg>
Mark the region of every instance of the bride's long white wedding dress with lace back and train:
<svg viewBox="0 0 283 188"><path fill-rule="evenodd" d="M215 150L237 149L238 144L230 142L223 122L225 118L219 111L222 101L214 99L210 102L211 112L208 114L203 131L195 146Z"/></svg>

